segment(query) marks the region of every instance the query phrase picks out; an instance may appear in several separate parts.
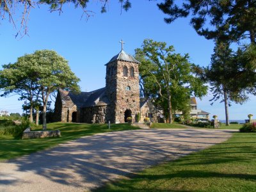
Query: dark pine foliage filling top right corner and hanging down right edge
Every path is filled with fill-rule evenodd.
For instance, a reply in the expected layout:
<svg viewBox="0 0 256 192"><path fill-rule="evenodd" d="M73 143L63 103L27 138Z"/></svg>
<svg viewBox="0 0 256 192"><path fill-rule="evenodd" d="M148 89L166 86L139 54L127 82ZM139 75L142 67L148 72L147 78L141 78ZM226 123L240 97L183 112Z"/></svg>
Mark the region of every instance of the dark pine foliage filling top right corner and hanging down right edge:
<svg viewBox="0 0 256 192"><path fill-rule="evenodd" d="M236 69L232 77L236 81L230 83L228 88L232 93L241 90L256 93L253 59L256 58L256 0L184 0L182 3L164 0L158 6L169 16L165 19L167 23L191 16L190 23L198 35L221 44L238 43L238 51L232 58ZM245 40L248 45L239 44L241 40ZM221 73L216 73L215 77L221 79Z"/></svg>

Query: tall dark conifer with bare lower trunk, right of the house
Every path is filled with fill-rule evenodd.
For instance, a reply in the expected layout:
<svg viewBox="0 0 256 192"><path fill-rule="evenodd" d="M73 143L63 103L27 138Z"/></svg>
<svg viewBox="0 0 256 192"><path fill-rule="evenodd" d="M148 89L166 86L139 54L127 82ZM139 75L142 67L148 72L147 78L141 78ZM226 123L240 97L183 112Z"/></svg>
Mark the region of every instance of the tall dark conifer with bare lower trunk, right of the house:
<svg viewBox="0 0 256 192"><path fill-rule="evenodd" d="M211 85L213 98L210 101L221 99L225 104L226 125L229 125L228 106L230 102L242 104L248 99L245 89L233 86L234 76L239 72L235 61L235 53L229 48L228 43L216 42L214 54L212 54L211 65L204 68L203 79ZM234 88L236 87L236 88ZM213 104L213 102L211 104Z"/></svg>

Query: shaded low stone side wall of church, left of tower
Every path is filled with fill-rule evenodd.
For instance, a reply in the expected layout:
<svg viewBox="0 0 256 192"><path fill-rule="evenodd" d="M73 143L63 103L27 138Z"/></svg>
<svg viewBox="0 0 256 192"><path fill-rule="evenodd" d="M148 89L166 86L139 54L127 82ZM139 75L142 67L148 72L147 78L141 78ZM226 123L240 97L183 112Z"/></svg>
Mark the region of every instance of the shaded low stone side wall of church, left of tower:
<svg viewBox="0 0 256 192"><path fill-rule="evenodd" d="M80 122L87 124L106 123L107 106L93 106L90 108L81 108Z"/></svg>

